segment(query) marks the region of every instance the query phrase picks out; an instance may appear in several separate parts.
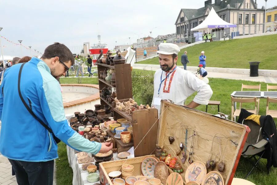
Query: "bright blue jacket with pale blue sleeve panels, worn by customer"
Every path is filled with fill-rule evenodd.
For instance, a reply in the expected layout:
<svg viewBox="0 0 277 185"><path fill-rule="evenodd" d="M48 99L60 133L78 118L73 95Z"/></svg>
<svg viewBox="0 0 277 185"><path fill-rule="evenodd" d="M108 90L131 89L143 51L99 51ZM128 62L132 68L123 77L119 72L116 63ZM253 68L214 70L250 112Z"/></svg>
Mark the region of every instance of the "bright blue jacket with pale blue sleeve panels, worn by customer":
<svg viewBox="0 0 277 185"><path fill-rule="evenodd" d="M9 159L42 162L58 158L57 144L23 105L18 94L18 73L22 64L8 68L0 86L0 152ZM34 114L66 145L97 154L98 142L90 142L67 123L58 81L42 60L33 57L24 65L20 88Z"/></svg>

